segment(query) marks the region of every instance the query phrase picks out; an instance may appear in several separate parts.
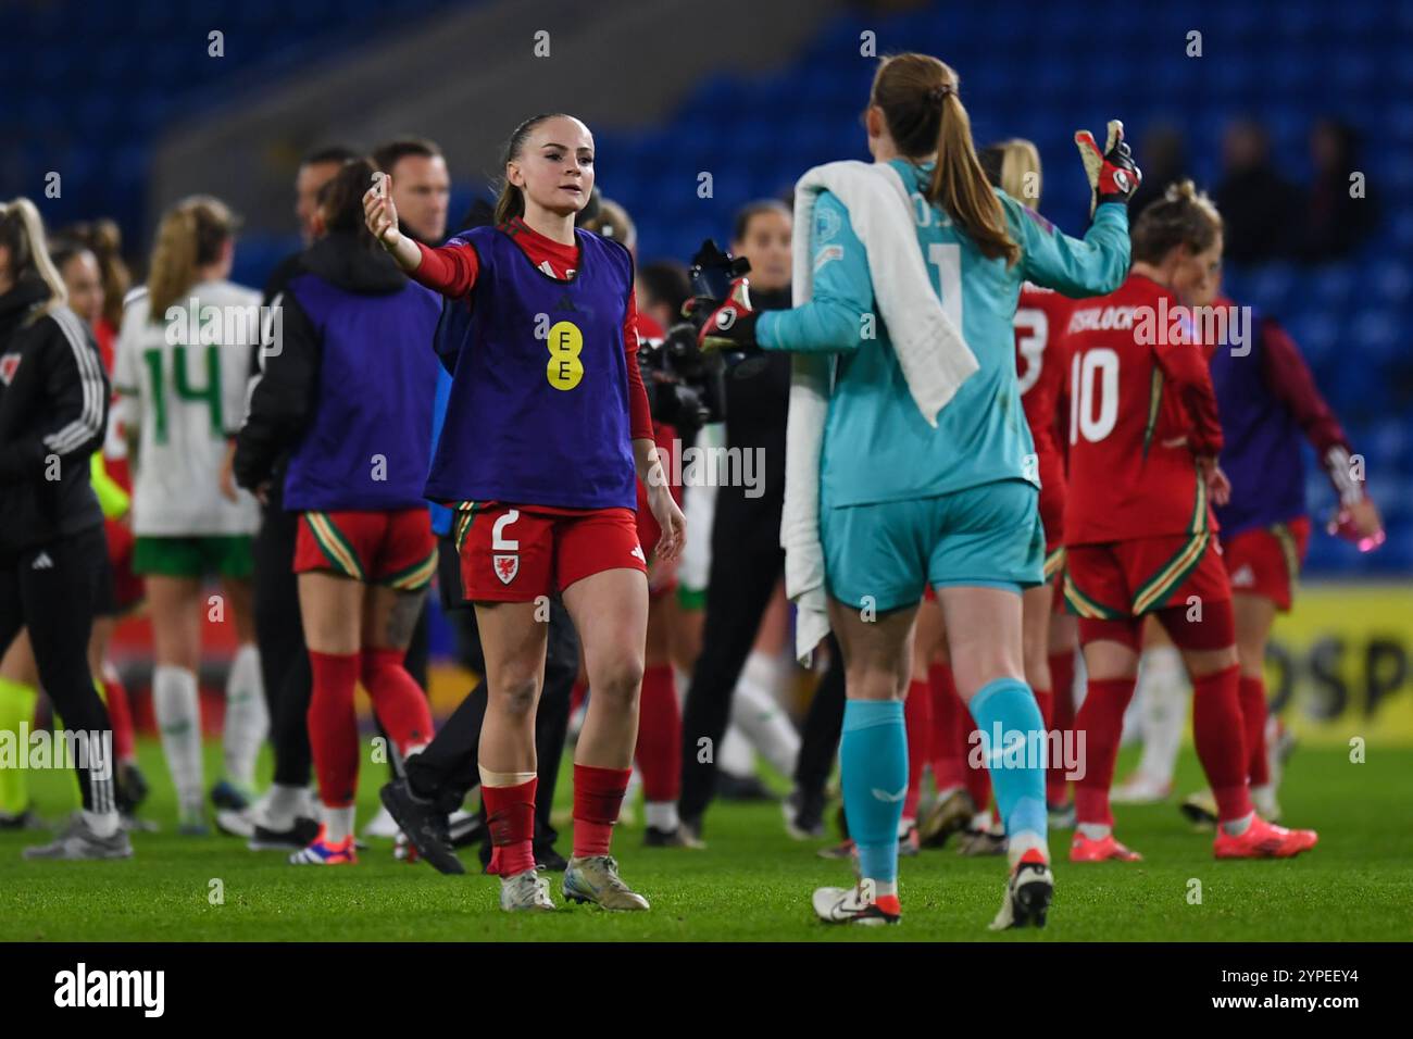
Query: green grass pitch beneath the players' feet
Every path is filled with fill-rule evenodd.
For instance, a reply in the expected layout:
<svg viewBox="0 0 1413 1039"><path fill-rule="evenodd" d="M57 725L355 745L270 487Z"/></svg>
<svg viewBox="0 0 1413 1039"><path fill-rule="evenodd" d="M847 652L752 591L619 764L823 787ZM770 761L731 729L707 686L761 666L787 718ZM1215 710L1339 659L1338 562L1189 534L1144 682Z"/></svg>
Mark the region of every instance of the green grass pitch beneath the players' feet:
<svg viewBox="0 0 1413 1039"><path fill-rule="evenodd" d="M164 833L136 834L126 862L25 862L20 850L42 831L0 834L0 940L6 941L377 941L377 940L1132 940L1277 941L1409 940L1413 906L1413 749L1371 748L1366 763L1342 749L1296 752L1282 789L1286 820L1320 831L1314 852L1283 862L1217 862L1211 835L1195 834L1167 804L1118 809L1118 835L1139 864L1071 865L1068 833L1051 834L1056 902L1043 932L989 934L1002 895L999 858L952 847L903 859L903 924L886 930L814 920L810 892L852 882L848 864L822 861L827 841L797 843L773 804L718 804L705 851L647 850L642 826L620 827L623 875L653 902L649 913L609 915L565 906L543 916L502 913L497 881L441 876L406 865L390 841L373 841L356 867L295 868L276 852L250 852L219 834L178 837L161 749L143 742L153 783L143 816ZM1125 775L1128 755L1121 762ZM208 748L208 777L219 766ZM376 810L386 769L365 768L359 821ZM1200 785L1187 749L1180 792ZM31 776L35 809L59 818L73 807L71 773ZM560 783L567 802L568 775ZM568 834L560 850L569 850ZM473 850L462 852L475 871ZM212 903L218 885L223 903ZM1194 903L1198 881L1201 902ZM554 876L555 902L560 896Z"/></svg>

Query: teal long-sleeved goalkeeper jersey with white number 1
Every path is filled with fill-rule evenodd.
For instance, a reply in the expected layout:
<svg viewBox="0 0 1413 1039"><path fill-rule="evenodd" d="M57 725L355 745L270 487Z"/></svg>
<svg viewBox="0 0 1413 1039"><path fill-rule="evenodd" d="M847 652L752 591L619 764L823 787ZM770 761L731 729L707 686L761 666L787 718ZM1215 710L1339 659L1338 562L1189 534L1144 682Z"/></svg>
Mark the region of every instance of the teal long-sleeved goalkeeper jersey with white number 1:
<svg viewBox="0 0 1413 1039"><path fill-rule="evenodd" d="M1007 269L1003 259L982 256L945 212L924 201L931 165L894 160L893 168L911 187L917 247L933 286L981 368L941 410L937 427L928 425L875 310L868 257L849 212L822 192L808 242L814 297L756 322L764 349L839 355L821 455L821 503L931 498L1002 479L1039 486L1016 385L1012 321L1020 286L1031 281L1075 298L1113 291L1129 269L1128 209L1101 205L1081 242L998 189L1010 237L1022 249L1020 262Z"/></svg>

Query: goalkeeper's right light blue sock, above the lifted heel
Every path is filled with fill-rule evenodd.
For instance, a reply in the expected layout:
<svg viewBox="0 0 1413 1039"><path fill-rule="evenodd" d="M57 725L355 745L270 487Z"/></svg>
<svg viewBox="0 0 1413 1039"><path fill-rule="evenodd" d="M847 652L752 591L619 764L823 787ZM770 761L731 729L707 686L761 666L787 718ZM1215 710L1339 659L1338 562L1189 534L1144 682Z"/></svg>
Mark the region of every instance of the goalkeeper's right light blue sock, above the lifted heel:
<svg viewBox="0 0 1413 1039"><path fill-rule="evenodd" d="M1030 687L996 679L971 698L971 714L986 748L986 768L1006 837L1034 834L1046 841L1046 724ZM1000 744L996 744L998 728ZM1019 748L1015 741L1023 741ZM1009 752L1007 752L1009 749Z"/></svg>

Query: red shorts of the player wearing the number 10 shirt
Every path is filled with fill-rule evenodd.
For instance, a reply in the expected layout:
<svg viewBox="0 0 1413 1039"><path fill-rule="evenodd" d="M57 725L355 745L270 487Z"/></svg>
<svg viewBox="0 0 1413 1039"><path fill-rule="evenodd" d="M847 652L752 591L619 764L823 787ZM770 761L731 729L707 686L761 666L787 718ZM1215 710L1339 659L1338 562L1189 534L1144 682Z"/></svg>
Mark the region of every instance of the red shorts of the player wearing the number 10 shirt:
<svg viewBox="0 0 1413 1039"><path fill-rule="evenodd" d="M1166 606L1231 599L1212 532L1137 537L1065 550L1064 598L1071 614L1123 619Z"/></svg>

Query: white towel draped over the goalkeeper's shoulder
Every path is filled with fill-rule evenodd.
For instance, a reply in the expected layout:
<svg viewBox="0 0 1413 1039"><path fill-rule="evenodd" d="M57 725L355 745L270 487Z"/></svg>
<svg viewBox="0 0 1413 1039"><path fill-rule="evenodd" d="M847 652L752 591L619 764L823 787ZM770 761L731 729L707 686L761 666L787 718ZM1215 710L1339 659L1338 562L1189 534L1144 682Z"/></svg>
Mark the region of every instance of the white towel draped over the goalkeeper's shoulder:
<svg viewBox="0 0 1413 1039"><path fill-rule="evenodd" d="M814 294L810 230L814 205L829 191L849 211L863 243L877 311L913 401L930 425L958 387L978 369L976 358L933 290L913 223L913 201L887 163L827 163L796 184L794 305ZM796 656L808 662L829 633L824 547L820 543L820 454L829 411L831 358L796 353L786 431L786 505L780 544L786 550L786 594L796 604Z"/></svg>

